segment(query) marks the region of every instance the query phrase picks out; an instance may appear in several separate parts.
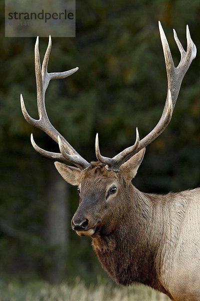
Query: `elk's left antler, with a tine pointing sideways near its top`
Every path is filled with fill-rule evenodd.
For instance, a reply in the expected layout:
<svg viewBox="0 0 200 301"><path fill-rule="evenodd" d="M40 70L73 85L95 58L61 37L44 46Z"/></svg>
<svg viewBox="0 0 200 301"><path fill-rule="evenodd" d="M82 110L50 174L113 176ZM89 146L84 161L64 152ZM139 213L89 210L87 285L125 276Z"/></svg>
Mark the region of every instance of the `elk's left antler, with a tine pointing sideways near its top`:
<svg viewBox="0 0 200 301"><path fill-rule="evenodd" d="M48 87L49 81L51 79L61 79L65 78L72 73L76 72L78 70L78 67L71 69L69 71L65 72L56 72L56 73L48 73L47 72L47 64L48 64L48 58L50 54L51 49L51 38L49 36L48 40L48 47L46 49L42 67L40 65L40 57L39 57L39 39L37 37L35 48L34 48L34 58L35 58L35 77L36 77L36 87L37 87L37 108L38 108L38 115L39 119L33 119L30 117L25 109L25 105L23 102L22 95L20 96L21 100L21 110L23 113L24 118L33 126L40 128L45 133L47 133L54 141L56 141L59 144L60 153L52 153L47 152L46 150L40 148L36 145L36 143L33 140L33 136L31 134L31 143L35 150L37 150L38 153L41 155L44 155L48 158L64 162L64 163L72 163L76 165L79 169L85 169L89 166L89 163L85 161L76 151L73 149L73 147L64 139L62 135L52 126L50 123L46 109L45 109L45 92Z"/></svg>

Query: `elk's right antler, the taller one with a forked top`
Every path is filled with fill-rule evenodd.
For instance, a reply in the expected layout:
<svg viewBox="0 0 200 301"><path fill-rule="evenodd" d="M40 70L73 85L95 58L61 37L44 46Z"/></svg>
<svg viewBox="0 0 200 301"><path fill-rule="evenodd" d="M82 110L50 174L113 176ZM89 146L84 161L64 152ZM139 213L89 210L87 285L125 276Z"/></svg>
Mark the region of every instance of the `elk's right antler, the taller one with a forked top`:
<svg viewBox="0 0 200 301"><path fill-rule="evenodd" d="M113 170L115 172L119 170L121 164L123 164L133 155L137 154L139 150L141 150L143 147L147 146L150 142L152 142L165 129L165 127L167 126L167 124L171 119L182 79L191 64L191 61L196 56L196 47L191 40L188 26L186 26L186 39L187 39L186 52L184 51L180 41L178 40L175 30L173 30L174 40L177 44L177 47L181 55L178 66L174 67L170 49L160 22L158 22L158 25L159 25L159 33L160 33L160 39L162 43L165 65L166 65L166 73L167 73L168 87L167 87L165 106L160 120L158 121L157 125L151 130L151 132L149 132L143 139L139 140L139 135L136 128L136 140L134 145L125 148L121 153L119 153L113 158L106 158L100 155L99 146L98 146L98 134L96 134L96 140L95 140L96 158L101 163L106 164L107 169Z"/></svg>

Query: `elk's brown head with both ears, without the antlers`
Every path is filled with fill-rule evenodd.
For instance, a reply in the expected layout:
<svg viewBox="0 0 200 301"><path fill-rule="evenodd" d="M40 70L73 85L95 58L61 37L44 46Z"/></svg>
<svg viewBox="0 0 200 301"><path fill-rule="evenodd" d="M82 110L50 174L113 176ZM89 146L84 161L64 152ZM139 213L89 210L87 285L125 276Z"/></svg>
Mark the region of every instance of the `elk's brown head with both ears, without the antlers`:
<svg viewBox="0 0 200 301"><path fill-rule="evenodd" d="M108 235L119 225L123 219L122 213L128 208L128 198L132 195L130 181L136 175L144 152L145 148L142 148L123 163L118 172L107 169L100 162L91 162L82 171L55 162L64 180L78 186L79 207L71 220L72 229L78 235Z"/></svg>

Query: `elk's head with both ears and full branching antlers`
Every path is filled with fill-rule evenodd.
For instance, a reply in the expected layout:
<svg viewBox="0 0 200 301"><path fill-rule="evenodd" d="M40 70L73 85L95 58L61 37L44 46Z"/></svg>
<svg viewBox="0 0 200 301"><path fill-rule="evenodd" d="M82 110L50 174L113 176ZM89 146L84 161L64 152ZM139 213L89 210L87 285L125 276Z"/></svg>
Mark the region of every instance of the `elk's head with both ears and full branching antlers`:
<svg viewBox="0 0 200 301"><path fill-rule="evenodd" d="M59 145L60 153L47 152L41 149L33 140L32 146L38 153L56 160L55 167L63 179L71 185L77 186L80 196L79 206L76 210L71 226L77 234L92 236L99 233L111 233L123 218L124 208L128 210L129 195L133 195L134 187L131 179L136 175L137 169L143 159L145 147L158 137L169 123L176 103L182 79L196 55L188 27L186 27L187 50L184 51L174 31L174 40L181 54L177 67L174 67L170 49L159 23L159 33L164 53L167 72L167 96L165 106L157 125L141 140L136 128L136 139L132 146L122 150L113 158L101 156L98 146L98 135L95 140L95 153L97 162L90 164L85 161L73 147L61 136L50 123L44 104L45 91L51 79L65 78L78 68L61 73L47 73L47 63L51 49L49 37L48 47L44 55L42 67L40 66L38 37L35 43L35 76L37 87L37 107L39 119L31 118L24 106L21 95L21 109L24 118L32 125L42 129ZM76 167L67 166L71 163Z"/></svg>

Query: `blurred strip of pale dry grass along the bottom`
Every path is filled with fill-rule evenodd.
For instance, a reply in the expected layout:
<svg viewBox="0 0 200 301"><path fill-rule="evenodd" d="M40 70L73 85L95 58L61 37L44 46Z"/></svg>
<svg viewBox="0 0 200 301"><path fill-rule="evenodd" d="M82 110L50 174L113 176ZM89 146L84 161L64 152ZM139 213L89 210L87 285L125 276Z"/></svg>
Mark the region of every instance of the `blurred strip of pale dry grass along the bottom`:
<svg viewBox="0 0 200 301"><path fill-rule="evenodd" d="M113 286L110 283L90 284L76 280L51 285L46 282L18 285L0 283L0 301L167 301L164 294L142 285L132 287Z"/></svg>

